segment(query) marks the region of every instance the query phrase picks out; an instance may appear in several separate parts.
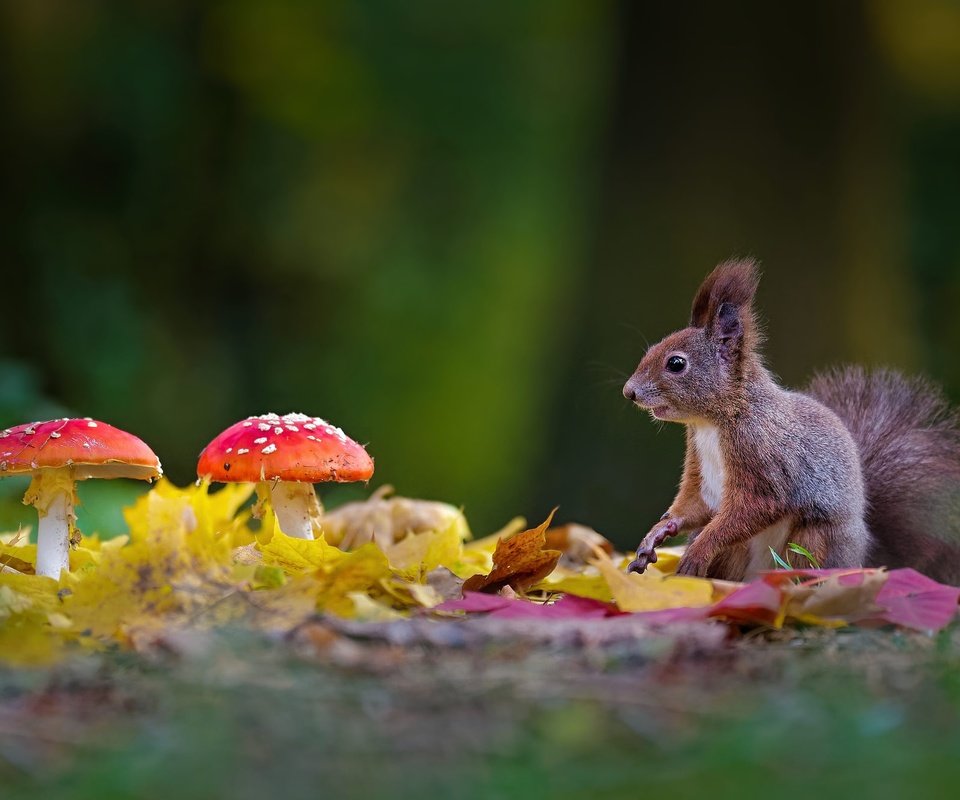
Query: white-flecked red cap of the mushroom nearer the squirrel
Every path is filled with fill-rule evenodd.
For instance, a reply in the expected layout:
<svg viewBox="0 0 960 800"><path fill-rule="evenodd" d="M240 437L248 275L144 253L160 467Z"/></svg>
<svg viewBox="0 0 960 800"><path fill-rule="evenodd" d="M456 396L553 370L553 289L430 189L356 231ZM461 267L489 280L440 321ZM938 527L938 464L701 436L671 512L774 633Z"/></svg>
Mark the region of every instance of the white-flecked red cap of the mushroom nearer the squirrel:
<svg viewBox="0 0 960 800"><path fill-rule="evenodd" d="M197 475L221 483L370 480L373 459L340 428L306 414L262 414L231 425L200 454Z"/></svg>

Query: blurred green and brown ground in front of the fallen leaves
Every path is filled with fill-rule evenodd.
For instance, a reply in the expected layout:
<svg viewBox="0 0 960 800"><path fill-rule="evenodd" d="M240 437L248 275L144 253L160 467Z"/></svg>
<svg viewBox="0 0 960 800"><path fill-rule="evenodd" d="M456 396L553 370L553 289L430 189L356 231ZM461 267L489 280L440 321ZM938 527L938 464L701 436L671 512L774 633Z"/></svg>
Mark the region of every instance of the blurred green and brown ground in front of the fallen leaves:
<svg viewBox="0 0 960 800"><path fill-rule="evenodd" d="M950 797L958 712L956 624L318 617L0 671L0 797Z"/></svg>

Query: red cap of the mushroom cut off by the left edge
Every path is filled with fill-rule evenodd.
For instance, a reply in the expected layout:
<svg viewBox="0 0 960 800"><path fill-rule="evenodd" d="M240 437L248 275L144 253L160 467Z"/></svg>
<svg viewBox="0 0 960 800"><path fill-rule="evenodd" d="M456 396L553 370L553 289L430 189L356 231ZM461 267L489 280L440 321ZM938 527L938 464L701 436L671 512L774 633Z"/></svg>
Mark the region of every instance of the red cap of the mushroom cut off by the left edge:
<svg viewBox="0 0 960 800"><path fill-rule="evenodd" d="M106 422L53 419L0 430L0 475L69 468L75 480L163 474L160 460L141 439Z"/></svg>

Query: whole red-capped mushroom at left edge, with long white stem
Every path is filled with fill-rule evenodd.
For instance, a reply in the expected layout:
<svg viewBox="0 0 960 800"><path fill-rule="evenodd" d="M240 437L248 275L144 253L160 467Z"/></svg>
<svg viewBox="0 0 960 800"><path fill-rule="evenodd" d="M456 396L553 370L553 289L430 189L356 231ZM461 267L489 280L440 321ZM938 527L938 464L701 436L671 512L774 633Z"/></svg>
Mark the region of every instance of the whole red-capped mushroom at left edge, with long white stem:
<svg viewBox="0 0 960 800"><path fill-rule="evenodd" d="M61 570L70 568L76 481L150 481L162 474L156 454L140 439L90 417L30 422L0 431L0 477L33 476L23 502L40 515L37 575L59 578Z"/></svg>

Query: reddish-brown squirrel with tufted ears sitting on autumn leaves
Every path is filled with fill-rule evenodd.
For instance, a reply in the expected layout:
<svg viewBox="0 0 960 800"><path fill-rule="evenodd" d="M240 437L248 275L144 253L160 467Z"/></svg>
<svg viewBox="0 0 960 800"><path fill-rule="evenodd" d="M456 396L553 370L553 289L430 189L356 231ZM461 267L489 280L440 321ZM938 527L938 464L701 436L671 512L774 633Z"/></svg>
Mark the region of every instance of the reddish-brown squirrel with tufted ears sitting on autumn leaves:
<svg viewBox="0 0 960 800"><path fill-rule="evenodd" d="M803 391L759 352L753 260L720 264L690 326L650 347L623 387L657 420L686 425L676 498L637 549L690 534L677 573L749 580L788 545L832 567L913 567L960 583L960 420L936 387L891 370L837 368ZM798 566L809 566L802 564Z"/></svg>

